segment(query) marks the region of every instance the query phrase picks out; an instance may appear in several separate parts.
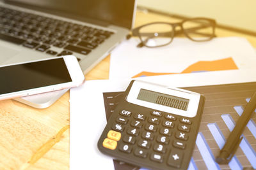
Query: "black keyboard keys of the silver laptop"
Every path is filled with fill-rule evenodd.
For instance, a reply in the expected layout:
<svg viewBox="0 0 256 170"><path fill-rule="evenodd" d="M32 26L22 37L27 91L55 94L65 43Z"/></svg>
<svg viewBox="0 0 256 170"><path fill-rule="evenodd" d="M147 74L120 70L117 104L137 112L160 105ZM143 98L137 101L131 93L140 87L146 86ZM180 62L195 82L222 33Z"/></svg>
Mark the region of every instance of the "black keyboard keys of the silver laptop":
<svg viewBox="0 0 256 170"><path fill-rule="evenodd" d="M49 55L87 55L113 32L0 6L0 39ZM58 53L51 46L63 48Z"/></svg>

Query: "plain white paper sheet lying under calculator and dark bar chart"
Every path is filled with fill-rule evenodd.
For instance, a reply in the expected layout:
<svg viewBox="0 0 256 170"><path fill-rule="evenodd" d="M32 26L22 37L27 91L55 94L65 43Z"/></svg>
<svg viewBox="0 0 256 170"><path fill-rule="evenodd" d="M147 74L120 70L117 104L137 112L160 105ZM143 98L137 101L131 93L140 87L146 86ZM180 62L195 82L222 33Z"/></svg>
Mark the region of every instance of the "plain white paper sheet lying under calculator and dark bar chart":
<svg viewBox="0 0 256 170"><path fill-rule="evenodd" d="M136 78L168 87L193 87L256 81L256 69L171 74ZM99 152L105 125L103 92L124 91L131 79L91 80L70 90L70 170L114 169L113 159Z"/></svg>

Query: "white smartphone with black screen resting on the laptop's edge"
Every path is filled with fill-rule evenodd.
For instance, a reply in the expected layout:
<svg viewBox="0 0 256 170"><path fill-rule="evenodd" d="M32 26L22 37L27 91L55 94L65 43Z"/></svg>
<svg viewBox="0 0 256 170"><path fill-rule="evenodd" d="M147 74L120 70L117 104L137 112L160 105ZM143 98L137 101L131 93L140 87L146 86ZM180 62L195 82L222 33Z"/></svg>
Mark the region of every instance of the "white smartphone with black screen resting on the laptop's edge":
<svg viewBox="0 0 256 170"><path fill-rule="evenodd" d="M84 74L73 55L0 66L0 100L77 87Z"/></svg>

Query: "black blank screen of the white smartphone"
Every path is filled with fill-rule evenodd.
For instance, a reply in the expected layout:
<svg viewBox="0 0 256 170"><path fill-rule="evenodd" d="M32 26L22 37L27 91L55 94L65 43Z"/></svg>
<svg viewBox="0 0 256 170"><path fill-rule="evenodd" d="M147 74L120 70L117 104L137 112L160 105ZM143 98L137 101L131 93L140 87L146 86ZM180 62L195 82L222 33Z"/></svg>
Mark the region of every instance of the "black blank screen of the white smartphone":
<svg viewBox="0 0 256 170"><path fill-rule="evenodd" d="M72 81L63 58L0 67L0 94Z"/></svg>

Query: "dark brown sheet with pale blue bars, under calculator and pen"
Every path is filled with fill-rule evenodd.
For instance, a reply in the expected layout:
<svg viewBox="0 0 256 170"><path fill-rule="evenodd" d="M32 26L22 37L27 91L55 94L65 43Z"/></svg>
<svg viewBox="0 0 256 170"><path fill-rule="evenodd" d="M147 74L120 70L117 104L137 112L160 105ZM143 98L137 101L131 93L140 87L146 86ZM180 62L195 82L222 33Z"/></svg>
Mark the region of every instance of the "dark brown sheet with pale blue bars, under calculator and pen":
<svg viewBox="0 0 256 170"><path fill-rule="evenodd" d="M219 165L214 159L225 145L230 131L243 113L244 107L256 91L256 82L184 88L205 96L202 122L188 169L256 169L256 110L243 132L236 155L229 164ZM104 93L107 118L115 109L122 92ZM136 166L115 160L116 169ZM138 167L136 167L138 168ZM141 167L141 169L143 169Z"/></svg>

